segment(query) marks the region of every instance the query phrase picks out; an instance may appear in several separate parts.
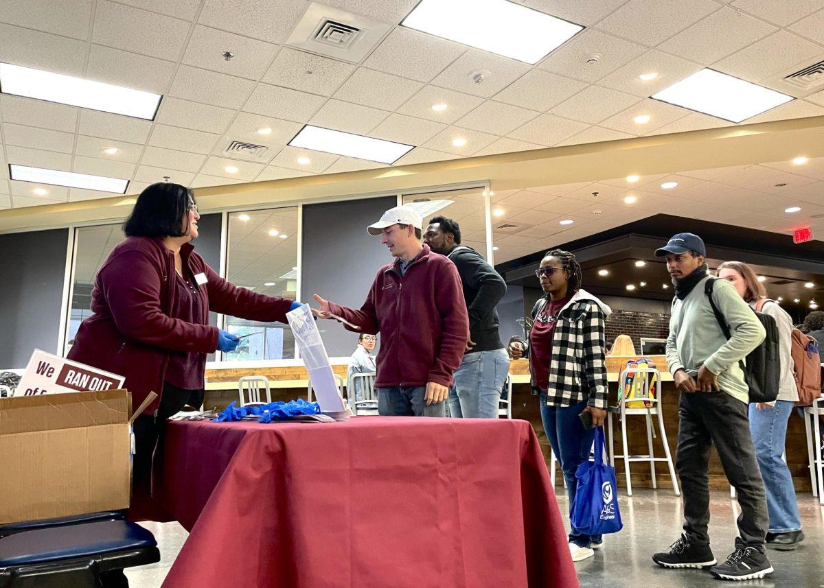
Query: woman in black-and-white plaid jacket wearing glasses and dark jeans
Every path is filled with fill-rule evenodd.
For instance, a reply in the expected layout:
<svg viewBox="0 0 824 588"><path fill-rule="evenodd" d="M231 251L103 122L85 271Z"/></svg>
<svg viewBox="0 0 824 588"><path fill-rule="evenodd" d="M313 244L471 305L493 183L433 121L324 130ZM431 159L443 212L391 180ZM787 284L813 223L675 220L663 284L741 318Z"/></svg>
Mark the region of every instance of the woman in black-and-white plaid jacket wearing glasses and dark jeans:
<svg viewBox="0 0 824 588"><path fill-rule="evenodd" d="M525 343L513 338L513 359L529 357L532 393L541 395L541 420L561 464L572 511L578 465L589 459L595 427L606 418L604 321L609 306L581 289L581 266L569 251L552 250L536 271L545 292L532 308L534 320ZM592 419L592 427L582 421ZM601 535L574 527L569 533L573 561L592 557Z"/></svg>

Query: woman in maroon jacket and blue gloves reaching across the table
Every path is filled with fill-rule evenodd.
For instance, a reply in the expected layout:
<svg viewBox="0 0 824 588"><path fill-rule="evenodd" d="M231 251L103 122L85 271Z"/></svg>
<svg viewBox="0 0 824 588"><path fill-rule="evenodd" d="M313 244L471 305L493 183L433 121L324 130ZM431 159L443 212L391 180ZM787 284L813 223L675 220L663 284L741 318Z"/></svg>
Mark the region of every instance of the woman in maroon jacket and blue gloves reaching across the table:
<svg viewBox="0 0 824 588"><path fill-rule="evenodd" d="M190 189L143 190L124 224L127 238L97 272L95 314L82 322L68 352L69 359L124 376L133 408L150 392L159 394L134 422L133 506L147 497L163 423L185 404L202 402L206 354L237 347L234 335L209 326L209 310L285 323L298 306L218 276L190 244L199 218Z"/></svg>

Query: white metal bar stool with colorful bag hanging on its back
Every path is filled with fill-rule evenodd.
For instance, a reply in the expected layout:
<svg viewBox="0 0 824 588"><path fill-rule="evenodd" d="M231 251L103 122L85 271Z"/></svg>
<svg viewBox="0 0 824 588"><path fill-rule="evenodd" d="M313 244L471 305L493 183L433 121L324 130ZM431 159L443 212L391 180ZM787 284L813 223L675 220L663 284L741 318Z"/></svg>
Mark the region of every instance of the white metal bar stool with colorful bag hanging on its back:
<svg viewBox="0 0 824 588"><path fill-rule="evenodd" d="M663 410L659 408L661 399L649 391L649 382L652 376L656 376L656 381L661 381L661 373L653 367L629 367L620 372L618 377L618 385L625 382L627 376L633 378L642 378L640 380L640 394L636 394L633 398L627 399L625 394L620 394L620 401L618 406L611 407L607 411L607 428L609 430L609 446L613 446L613 432L612 432L612 415L617 413L620 415L621 441L624 446L623 455L615 455L610 451L610 464L615 467L615 459L619 457L624 460L624 472L626 475L626 493L627 496L632 496L632 481L630 480L630 462L646 461L649 462L650 474L653 478L653 488L658 488L658 483L655 476L655 462L666 461L670 471L670 478L672 478L672 488L675 489L675 495L681 496L681 490L678 488L678 480L675 475L675 465L672 464L672 455L670 454L669 444L667 443L667 432L664 429ZM659 394L660 395L660 394ZM646 408L627 408L628 402L644 402L647 404ZM644 415L647 424L647 446L649 450L648 455L630 455L629 441L626 434L626 417L634 415ZM661 441L664 446L664 454L666 457L655 457L655 450L653 450L653 415L658 416L658 428L661 431Z"/></svg>

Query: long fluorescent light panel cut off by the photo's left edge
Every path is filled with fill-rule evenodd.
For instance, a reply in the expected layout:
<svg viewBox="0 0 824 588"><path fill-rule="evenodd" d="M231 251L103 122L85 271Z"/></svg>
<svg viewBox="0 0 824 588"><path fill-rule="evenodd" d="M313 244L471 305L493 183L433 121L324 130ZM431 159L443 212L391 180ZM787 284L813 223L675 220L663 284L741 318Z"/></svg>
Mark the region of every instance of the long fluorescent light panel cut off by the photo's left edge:
<svg viewBox="0 0 824 588"><path fill-rule="evenodd" d="M61 73L0 63L0 92L154 120L162 96Z"/></svg>

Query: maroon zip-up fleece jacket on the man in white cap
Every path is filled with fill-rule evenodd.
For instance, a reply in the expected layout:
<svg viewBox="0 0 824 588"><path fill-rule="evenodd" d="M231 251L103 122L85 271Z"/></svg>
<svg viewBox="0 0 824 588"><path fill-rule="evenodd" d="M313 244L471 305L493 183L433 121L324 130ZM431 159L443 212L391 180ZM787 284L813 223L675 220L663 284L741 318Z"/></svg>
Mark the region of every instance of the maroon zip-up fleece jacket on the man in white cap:
<svg viewBox="0 0 824 588"><path fill-rule="evenodd" d="M330 302L354 333L381 334L376 386L452 385L469 338L469 315L455 264L428 245L400 276L400 259L375 276L366 302L353 310Z"/></svg>

